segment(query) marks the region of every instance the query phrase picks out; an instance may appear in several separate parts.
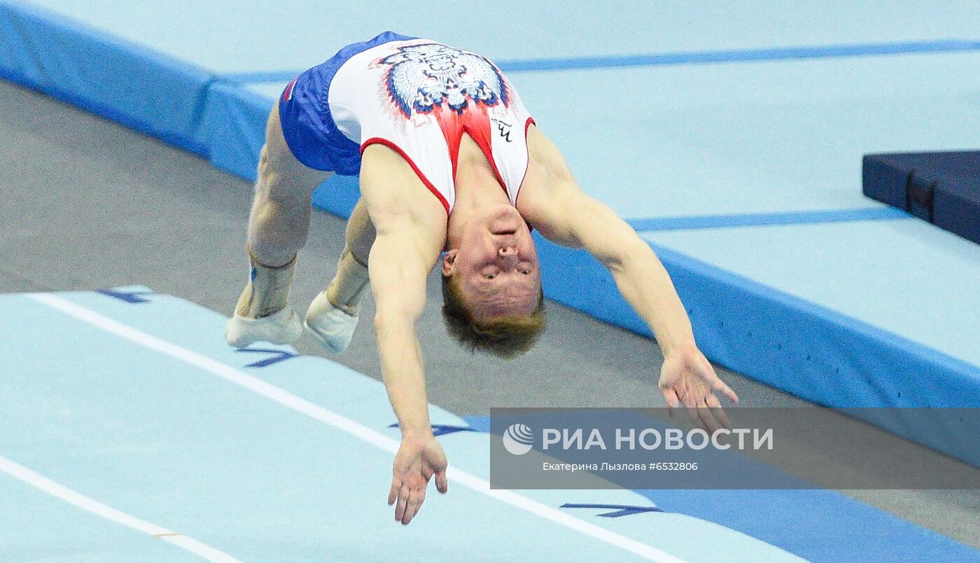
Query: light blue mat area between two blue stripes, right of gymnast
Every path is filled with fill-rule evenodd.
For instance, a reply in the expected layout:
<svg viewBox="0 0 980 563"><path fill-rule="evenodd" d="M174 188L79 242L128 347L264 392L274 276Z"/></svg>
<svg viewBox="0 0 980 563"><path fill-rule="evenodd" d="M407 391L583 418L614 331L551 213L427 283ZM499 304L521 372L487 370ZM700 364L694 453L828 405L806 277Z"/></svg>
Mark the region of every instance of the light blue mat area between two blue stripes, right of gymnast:
<svg viewBox="0 0 980 563"><path fill-rule="evenodd" d="M623 217L676 217L879 207L861 194L861 155L975 144L980 80L962 77L978 63L903 55L513 80L583 189Z"/></svg>

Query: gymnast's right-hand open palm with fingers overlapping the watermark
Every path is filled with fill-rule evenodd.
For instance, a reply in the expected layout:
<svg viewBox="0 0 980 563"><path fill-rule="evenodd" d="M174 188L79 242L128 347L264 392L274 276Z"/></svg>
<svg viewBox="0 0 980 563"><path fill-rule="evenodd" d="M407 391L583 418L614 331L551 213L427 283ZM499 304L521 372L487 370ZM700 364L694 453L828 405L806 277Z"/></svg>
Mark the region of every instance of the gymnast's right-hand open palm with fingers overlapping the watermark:
<svg viewBox="0 0 980 563"><path fill-rule="evenodd" d="M674 409L684 405L691 421L708 432L731 426L714 391L720 391L736 403L738 395L718 379L708 358L694 344L664 355L659 386L670 416Z"/></svg>

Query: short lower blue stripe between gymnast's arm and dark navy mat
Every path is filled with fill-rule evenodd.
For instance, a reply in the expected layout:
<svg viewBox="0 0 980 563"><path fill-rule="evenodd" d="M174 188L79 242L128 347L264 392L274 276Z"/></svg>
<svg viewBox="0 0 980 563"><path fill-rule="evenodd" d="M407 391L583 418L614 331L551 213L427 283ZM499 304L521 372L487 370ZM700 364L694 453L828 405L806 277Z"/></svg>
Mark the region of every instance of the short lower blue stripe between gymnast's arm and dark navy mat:
<svg viewBox="0 0 980 563"><path fill-rule="evenodd" d="M785 213L737 213L731 215L697 215L627 219L634 230L687 230L720 227L758 227L763 225L802 225L843 221L881 221L911 218L905 211L892 207L840 209L830 211L793 211Z"/></svg>

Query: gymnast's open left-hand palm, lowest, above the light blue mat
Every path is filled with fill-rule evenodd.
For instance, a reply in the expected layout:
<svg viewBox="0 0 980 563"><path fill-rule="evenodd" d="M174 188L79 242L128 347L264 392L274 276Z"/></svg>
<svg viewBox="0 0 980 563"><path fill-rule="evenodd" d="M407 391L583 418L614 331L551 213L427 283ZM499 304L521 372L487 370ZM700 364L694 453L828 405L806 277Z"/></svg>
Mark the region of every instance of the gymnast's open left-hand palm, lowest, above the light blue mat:
<svg viewBox="0 0 980 563"><path fill-rule="evenodd" d="M447 465L446 454L431 433L402 436L402 446L395 455L391 490L388 492L388 505L397 501L396 521L402 524L412 522L425 501L425 489L433 475L439 492L448 490Z"/></svg>

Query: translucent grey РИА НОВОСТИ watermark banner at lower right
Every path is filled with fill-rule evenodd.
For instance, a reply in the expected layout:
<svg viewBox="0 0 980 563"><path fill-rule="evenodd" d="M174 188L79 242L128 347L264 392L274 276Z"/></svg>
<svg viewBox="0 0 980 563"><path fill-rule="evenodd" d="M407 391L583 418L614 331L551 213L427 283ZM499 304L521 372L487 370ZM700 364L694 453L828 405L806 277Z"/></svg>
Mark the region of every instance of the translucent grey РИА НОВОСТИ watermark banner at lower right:
<svg viewBox="0 0 980 563"><path fill-rule="evenodd" d="M861 409L858 409L860 411ZM736 408L709 432L665 409L491 409L497 488L980 488L980 409ZM946 453L876 424L932 428ZM680 423L680 424L679 424ZM951 432L951 429L953 432ZM960 439L962 438L962 439ZM869 447L867 440L878 442ZM955 456L951 457L951 455ZM964 461L965 460L965 461Z"/></svg>

